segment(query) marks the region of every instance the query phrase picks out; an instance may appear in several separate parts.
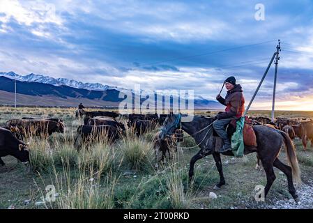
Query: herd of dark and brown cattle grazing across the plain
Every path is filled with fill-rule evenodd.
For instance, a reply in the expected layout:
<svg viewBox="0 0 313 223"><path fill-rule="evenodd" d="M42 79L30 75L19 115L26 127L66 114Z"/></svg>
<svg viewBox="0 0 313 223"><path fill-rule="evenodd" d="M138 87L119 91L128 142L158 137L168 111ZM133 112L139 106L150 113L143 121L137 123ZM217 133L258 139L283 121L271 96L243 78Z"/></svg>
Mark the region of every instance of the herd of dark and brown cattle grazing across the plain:
<svg viewBox="0 0 313 223"><path fill-rule="evenodd" d="M79 125L75 136L75 148L82 148L83 144L88 144L92 139L100 139L100 136L114 142L125 136L126 128L123 120L135 135L153 130L162 125L167 117L166 114L118 114L116 112L86 112L79 109L75 112L76 118L83 118L84 125ZM119 119L118 119L119 117ZM250 117L252 125L268 125L270 128L277 128L289 134L291 139L299 137L306 149L307 141L313 143L313 121L298 120L290 118L277 118L275 123L266 117ZM122 121L121 121L122 120ZM1 157L13 155L21 162L29 162L29 151L27 144L23 140L29 136L48 137L54 132L64 132L64 121L61 118L31 118L11 119L0 127L0 165L4 165ZM165 138L163 141L158 137L157 132L154 137L155 167L165 159L167 153L171 158L176 151L177 144L183 140L183 131ZM80 139L80 140L79 140Z"/></svg>

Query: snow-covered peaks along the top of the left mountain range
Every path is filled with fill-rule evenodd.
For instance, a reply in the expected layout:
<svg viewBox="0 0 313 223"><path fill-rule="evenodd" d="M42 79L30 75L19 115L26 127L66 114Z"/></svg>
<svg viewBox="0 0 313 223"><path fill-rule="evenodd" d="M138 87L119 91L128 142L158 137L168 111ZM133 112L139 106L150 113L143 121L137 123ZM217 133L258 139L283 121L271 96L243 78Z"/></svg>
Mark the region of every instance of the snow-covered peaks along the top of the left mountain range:
<svg viewBox="0 0 313 223"><path fill-rule="evenodd" d="M91 91L106 91L106 90L121 91L123 90L116 86L108 86L108 85L103 85L99 83L83 83L83 82L77 82L73 79L53 78L53 77L48 77L44 75L36 75L33 73L22 76L11 71L11 72L0 72L0 76L8 77L11 79L17 79L21 82L37 82L37 83L42 83L42 84L52 84L54 86L66 85L75 89L87 89Z"/></svg>

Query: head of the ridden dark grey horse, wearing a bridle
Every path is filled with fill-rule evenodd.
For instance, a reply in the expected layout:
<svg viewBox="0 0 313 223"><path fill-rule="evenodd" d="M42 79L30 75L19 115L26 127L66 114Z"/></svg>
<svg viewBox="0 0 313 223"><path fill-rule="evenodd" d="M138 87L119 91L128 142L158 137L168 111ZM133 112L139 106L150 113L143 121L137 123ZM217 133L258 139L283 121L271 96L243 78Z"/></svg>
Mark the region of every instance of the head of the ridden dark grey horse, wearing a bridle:
<svg viewBox="0 0 313 223"><path fill-rule="evenodd" d="M181 114L173 114L172 112L167 115L161 128L160 139L164 140L165 137L175 133L176 129L181 126Z"/></svg>

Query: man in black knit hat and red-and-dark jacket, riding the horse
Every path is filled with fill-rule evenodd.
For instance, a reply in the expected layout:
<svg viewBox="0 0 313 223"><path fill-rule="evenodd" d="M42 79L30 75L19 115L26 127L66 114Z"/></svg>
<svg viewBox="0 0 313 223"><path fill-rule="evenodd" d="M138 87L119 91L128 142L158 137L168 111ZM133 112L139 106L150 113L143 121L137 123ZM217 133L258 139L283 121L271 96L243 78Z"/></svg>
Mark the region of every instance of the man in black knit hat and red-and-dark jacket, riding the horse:
<svg viewBox="0 0 313 223"><path fill-rule="evenodd" d="M235 77L228 77L224 81L227 89L227 95L222 98L220 94L216 96L218 102L226 106L225 112L217 114L215 118L218 120L213 123L213 128L218 136L223 140L223 146L220 153L231 150L231 141L227 135L225 127L234 120L240 118L245 111L245 98L243 98L243 90L240 84L236 84Z"/></svg>

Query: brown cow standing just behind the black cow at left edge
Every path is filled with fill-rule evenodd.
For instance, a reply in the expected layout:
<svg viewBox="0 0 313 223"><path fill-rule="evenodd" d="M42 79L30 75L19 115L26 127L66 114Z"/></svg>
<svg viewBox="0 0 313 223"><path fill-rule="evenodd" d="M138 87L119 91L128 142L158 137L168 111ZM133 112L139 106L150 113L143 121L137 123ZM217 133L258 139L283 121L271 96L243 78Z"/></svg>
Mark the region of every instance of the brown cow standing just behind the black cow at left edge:
<svg viewBox="0 0 313 223"><path fill-rule="evenodd" d="M6 122L7 129L15 128L22 136L33 134L38 136L50 136L53 132L64 132L62 120L49 121L45 119L11 119Z"/></svg>

